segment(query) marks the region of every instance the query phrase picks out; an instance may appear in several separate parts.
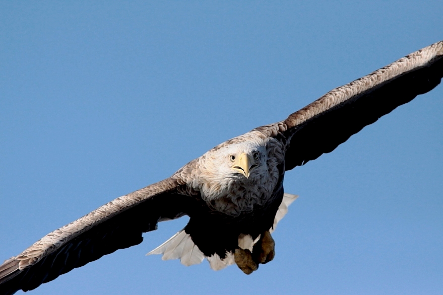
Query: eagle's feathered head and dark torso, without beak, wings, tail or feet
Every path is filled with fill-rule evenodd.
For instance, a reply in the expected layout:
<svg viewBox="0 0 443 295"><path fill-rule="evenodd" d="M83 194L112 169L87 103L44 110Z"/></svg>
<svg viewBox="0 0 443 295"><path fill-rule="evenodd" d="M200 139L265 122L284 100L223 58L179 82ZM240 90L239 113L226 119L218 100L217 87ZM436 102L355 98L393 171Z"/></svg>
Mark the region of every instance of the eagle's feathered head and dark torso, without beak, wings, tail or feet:
<svg viewBox="0 0 443 295"><path fill-rule="evenodd" d="M173 179L204 202L200 211L189 214L184 231L210 257L221 259L238 248L239 235L252 240L270 230L283 198L285 145L258 130L223 142L189 162ZM258 153L260 163L249 177L233 172L228 157Z"/></svg>

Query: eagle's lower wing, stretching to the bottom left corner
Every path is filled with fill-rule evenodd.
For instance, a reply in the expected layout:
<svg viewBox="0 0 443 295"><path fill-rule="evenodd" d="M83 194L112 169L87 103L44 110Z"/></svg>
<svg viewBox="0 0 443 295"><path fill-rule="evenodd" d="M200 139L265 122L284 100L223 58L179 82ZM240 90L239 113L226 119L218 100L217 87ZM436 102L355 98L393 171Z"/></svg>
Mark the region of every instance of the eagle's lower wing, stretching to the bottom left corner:
<svg viewBox="0 0 443 295"><path fill-rule="evenodd" d="M0 265L0 294L31 290L76 267L143 241L162 219L188 214L196 199L168 178L99 207Z"/></svg>

